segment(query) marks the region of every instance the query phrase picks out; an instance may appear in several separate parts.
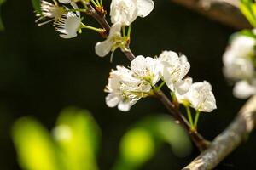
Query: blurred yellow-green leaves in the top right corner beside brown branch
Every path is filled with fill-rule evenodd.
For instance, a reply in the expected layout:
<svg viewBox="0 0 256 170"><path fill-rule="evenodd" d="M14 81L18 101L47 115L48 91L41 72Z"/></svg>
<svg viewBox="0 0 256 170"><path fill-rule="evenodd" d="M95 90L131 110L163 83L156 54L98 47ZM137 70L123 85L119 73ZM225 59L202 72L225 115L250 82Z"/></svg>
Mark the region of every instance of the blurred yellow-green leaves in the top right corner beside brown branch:
<svg viewBox="0 0 256 170"><path fill-rule="evenodd" d="M240 9L253 27L256 27L256 3L253 0L241 0Z"/></svg>

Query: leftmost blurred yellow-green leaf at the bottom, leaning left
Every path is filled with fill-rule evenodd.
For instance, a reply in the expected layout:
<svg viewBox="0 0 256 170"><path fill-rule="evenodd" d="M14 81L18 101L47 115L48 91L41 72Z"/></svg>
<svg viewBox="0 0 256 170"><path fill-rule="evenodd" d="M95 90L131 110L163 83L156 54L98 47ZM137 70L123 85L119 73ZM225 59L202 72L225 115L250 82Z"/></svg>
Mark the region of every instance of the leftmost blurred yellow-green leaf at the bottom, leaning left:
<svg viewBox="0 0 256 170"><path fill-rule="evenodd" d="M15 122L12 137L23 169L63 169L48 131L34 119L26 117Z"/></svg>

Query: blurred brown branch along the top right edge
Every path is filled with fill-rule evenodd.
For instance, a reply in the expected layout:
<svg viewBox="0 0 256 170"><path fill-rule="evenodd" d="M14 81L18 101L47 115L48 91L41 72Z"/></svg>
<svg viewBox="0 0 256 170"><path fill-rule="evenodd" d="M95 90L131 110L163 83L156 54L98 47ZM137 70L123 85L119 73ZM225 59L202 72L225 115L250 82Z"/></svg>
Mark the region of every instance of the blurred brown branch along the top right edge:
<svg viewBox="0 0 256 170"><path fill-rule="evenodd" d="M182 4L212 20L218 20L226 26L236 29L251 28L239 10L239 0L171 0Z"/></svg>

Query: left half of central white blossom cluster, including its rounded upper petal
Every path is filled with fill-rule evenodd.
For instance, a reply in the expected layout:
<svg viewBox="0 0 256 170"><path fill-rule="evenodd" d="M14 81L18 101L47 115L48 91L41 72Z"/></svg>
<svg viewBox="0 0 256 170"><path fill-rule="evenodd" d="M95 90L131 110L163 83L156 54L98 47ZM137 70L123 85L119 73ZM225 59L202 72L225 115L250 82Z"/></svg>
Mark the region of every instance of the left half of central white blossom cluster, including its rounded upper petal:
<svg viewBox="0 0 256 170"><path fill-rule="evenodd" d="M152 86L160 79L156 63L157 59L139 55L131 62L131 70L117 66L117 70L111 71L105 89L107 105L129 111L139 99L150 95Z"/></svg>

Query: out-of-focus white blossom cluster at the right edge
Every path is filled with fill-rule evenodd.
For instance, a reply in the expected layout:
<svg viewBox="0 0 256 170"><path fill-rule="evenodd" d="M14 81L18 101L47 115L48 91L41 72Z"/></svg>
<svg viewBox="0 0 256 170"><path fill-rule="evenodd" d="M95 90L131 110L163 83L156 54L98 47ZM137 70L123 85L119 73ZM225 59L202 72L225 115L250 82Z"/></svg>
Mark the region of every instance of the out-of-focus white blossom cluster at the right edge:
<svg viewBox="0 0 256 170"><path fill-rule="evenodd" d="M223 56L224 76L236 82L233 94L239 99L256 94L255 47L255 37L236 34Z"/></svg>

